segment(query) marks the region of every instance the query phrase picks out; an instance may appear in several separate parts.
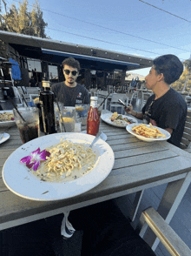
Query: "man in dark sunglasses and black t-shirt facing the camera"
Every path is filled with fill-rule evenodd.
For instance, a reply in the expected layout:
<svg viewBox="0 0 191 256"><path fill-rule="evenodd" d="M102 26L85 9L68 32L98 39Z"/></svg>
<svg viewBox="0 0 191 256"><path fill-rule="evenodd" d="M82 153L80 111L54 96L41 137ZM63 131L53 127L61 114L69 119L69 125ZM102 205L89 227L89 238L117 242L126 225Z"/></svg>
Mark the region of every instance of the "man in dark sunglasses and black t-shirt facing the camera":
<svg viewBox="0 0 191 256"><path fill-rule="evenodd" d="M76 83L79 75L80 64L73 58L63 60L63 75L65 81L53 84L51 91L55 93L58 102L64 106L75 106L75 104L89 104L89 91L81 84Z"/></svg>

